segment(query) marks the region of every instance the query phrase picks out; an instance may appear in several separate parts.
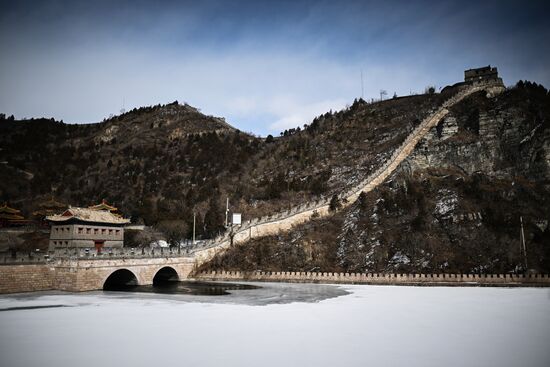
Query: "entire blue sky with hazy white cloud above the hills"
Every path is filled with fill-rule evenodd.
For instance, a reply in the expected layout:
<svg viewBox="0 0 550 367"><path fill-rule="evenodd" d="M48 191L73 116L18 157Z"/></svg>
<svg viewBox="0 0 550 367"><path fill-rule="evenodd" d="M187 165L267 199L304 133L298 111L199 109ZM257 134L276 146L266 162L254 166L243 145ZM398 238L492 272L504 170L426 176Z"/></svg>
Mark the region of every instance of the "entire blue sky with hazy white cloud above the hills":
<svg viewBox="0 0 550 367"><path fill-rule="evenodd" d="M277 134L365 99L495 65L550 87L544 1L2 3L0 111L97 122L187 102Z"/></svg>

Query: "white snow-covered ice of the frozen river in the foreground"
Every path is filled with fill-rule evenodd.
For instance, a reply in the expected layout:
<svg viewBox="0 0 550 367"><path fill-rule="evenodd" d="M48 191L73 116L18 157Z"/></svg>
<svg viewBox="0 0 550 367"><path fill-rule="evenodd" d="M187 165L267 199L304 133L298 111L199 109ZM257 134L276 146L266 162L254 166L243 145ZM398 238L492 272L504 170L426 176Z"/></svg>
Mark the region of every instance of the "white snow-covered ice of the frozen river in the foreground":
<svg viewBox="0 0 550 367"><path fill-rule="evenodd" d="M0 297L0 366L550 366L550 289Z"/></svg>

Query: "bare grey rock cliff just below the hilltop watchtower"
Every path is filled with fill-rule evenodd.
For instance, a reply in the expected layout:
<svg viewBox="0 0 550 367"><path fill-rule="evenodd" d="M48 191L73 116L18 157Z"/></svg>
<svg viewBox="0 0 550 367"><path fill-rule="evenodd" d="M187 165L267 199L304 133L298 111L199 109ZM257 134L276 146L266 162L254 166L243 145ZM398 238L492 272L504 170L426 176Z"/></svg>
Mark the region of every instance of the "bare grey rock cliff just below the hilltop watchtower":
<svg viewBox="0 0 550 367"><path fill-rule="evenodd" d="M542 110L510 104L519 91L495 98L483 93L451 109L408 159L411 171L426 168L482 172L496 178L550 178L550 130ZM522 108L523 107L523 108Z"/></svg>

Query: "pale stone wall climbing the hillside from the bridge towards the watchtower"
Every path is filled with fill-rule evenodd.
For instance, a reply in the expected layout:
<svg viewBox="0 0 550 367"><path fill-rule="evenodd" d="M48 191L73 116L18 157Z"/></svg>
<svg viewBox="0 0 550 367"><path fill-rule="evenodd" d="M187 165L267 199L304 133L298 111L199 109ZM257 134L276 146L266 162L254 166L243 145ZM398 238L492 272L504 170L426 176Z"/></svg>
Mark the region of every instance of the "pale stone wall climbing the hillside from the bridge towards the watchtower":
<svg viewBox="0 0 550 367"><path fill-rule="evenodd" d="M380 168L358 185L339 195L343 206L351 205L357 200L361 192L372 191L383 183L397 169L401 162L413 152L418 142L428 131L435 127L449 113L448 108L462 101L467 96L483 90L487 91L488 95L495 95L504 90L504 87L499 82L475 83L465 86L453 97L446 100L439 109L424 118ZM197 264L200 265L209 261L215 254L229 248L231 244L243 243L252 238L288 231L293 226L307 222L311 218L326 216L329 214L330 199L323 198L315 202L299 205L288 211L276 213L268 217L256 218L237 228L233 228L232 232L228 231L222 236L194 248L193 252L197 258Z"/></svg>

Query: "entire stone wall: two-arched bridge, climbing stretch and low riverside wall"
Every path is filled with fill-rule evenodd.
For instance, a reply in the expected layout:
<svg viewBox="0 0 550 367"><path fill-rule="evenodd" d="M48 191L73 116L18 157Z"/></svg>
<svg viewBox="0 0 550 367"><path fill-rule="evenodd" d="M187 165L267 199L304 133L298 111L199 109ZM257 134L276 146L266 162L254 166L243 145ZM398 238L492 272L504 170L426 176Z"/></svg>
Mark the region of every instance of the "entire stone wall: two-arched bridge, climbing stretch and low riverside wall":
<svg viewBox="0 0 550 367"><path fill-rule="evenodd" d="M488 96L504 90L502 82L481 81L463 85L457 94L446 100L409 134L391 157L375 172L356 186L339 195L343 206L351 205L361 192L374 190L405 160L420 140L448 113L448 108L467 96L486 91ZM197 273L196 269L214 255L234 244L252 238L273 235L290 230L312 218L329 215L330 198L293 207L267 217L247 221L223 235L186 249L112 249L98 254L95 250L65 249L50 254L18 254L0 258L0 293L36 290L87 291L102 289L108 277L117 270L129 270L137 284L152 284L155 275L170 268L178 279L303 281L366 284L459 284L459 285L550 285L548 275L509 274L347 274L347 273Z"/></svg>

